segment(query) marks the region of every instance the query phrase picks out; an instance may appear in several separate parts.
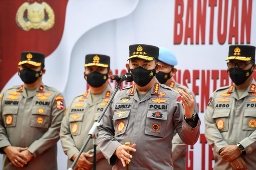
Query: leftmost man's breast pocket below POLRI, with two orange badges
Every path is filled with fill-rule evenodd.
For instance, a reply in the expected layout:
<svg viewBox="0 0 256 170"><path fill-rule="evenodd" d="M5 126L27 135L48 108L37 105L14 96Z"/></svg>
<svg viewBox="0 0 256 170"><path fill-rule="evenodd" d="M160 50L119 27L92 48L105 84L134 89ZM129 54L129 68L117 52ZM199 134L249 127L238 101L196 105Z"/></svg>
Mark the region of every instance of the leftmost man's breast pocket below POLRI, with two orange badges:
<svg viewBox="0 0 256 170"><path fill-rule="evenodd" d="M47 106L34 106L32 108L31 127L48 128L51 123L51 108Z"/></svg>

